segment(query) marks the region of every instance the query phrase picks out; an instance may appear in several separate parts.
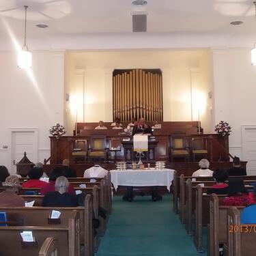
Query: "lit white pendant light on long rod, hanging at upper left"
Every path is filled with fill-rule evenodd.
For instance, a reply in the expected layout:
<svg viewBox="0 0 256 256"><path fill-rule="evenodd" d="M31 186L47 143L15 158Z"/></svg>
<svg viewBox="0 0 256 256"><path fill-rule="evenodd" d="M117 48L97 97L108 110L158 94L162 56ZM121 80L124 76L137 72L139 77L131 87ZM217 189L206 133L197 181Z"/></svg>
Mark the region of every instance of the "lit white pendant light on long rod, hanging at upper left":
<svg viewBox="0 0 256 256"><path fill-rule="evenodd" d="M32 66L32 54L27 47L27 5L25 8L25 33L24 33L24 44L22 51L18 54L18 68L31 68Z"/></svg>

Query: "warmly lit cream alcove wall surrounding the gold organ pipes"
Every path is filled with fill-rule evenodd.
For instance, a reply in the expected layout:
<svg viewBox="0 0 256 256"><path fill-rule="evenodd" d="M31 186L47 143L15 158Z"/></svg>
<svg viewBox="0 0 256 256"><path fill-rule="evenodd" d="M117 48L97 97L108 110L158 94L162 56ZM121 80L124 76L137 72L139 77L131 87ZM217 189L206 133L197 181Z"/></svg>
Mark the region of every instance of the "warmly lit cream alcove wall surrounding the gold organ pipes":
<svg viewBox="0 0 256 256"><path fill-rule="evenodd" d="M208 50L198 51L87 51L67 54L66 74L68 74L68 94L78 93L76 102L83 99L84 86L84 117L81 108L77 108L78 121L111 122L112 115L112 72L114 69L127 68L160 68L162 70L164 121L197 120L198 115L191 109L197 98L192 94L201 91L205 98L212 84L210 83L211 53ZM78 70L84 70L84 85L77 79ZM71 70L71 71L70 71ZM197 80L191 75L196 70ZM79 93L78 93L79 94ZM81 95L82 94L82 95ZM192 102L191 104L191 100ZM72 106L72 102L69 102ZM70 105L67 109L70 109ZM80 103L78 103L80 105ZM207 104L207 102L205 103ZM68 111L68 110L67 110ZM76 111L68 111L68 130L74 130ZM194 111L195 112L195 111ZM208 112L201 113L201 122L205 132L209 132ZM72 125L73 123L73 125Z"/></svg>

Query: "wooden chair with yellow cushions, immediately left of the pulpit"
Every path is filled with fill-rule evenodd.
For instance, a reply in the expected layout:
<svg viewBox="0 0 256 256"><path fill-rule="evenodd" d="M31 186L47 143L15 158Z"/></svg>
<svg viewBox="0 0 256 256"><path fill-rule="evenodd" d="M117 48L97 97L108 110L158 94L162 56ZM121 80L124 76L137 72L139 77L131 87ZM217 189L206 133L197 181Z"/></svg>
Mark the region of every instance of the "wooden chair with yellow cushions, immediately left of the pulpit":
<svg viewBox="0 0 256 256"><path fill-rule="evenodd" d="M94 158L107 160L109 154L109 148L106 147L106 136L104 135L91 135L91 141L88 151L88 159L92 160Z"/></svg>

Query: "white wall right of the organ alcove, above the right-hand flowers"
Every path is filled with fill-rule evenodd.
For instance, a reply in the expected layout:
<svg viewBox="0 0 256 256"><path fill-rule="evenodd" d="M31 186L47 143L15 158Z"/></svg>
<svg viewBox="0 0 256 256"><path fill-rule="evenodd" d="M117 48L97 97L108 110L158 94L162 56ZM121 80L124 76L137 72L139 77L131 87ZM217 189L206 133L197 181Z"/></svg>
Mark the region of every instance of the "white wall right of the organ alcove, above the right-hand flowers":
<svg viewBox="0 0 256 256"><path fill-rule="evenodd" d="M230 153L242 157L242 126L256 124L256 67L251 66L251 49L214 50L213 70L214 123L229 122ZM243 160L249 159L244 156Z"/></svg>

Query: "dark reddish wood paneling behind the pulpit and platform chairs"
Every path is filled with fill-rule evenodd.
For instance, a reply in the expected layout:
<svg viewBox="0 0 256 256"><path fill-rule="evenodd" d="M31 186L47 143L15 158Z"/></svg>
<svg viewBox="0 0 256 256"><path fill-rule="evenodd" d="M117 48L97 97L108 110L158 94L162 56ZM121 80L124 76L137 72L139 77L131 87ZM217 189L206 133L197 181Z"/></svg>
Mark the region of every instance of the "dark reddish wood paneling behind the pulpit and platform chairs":
<svg viewBox="0 0 256 256"><path fill-rule="evenodd" d="M111 147L110 141L112 139L115 138L115 145L121 145L122 139L130 137L130 134L119 134L118 130L84 130L84 132L83 136L79 137L63 136L58 140L55 137L51 137L51 163L61 163L65 158L71 159L74 141L77 139L90 141L90 138L93 135L105 135L106 140L109 141L107 146ZM156 137L156 141L158 141L158 146L156 147L156 160L169 161L169 141L172 134L171 130L158 129L157 131L154 131L154 136ZM203 137L207 139L208 158L211 162L229 160L228 137L221 138L217 134L188 134L186 135L188 145L191 144L191 140L195 137Z"/></svg>

